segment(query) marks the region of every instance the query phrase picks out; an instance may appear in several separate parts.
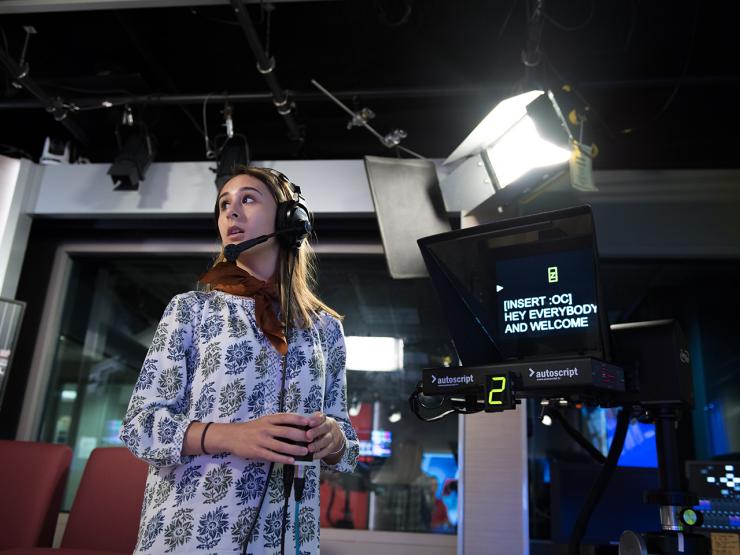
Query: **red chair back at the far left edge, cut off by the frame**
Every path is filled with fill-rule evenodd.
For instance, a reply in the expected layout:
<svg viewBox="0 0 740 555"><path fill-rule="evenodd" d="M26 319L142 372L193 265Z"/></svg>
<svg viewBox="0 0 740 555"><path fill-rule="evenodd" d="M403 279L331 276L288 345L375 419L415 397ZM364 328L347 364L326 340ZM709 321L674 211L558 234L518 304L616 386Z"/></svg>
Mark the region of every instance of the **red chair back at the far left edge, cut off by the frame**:
<svg viewBox="0 0 740 555"><path fill-rule="evenodd" d="M0 550L51 545L71 461L67 445L0 440Z"/></svg>

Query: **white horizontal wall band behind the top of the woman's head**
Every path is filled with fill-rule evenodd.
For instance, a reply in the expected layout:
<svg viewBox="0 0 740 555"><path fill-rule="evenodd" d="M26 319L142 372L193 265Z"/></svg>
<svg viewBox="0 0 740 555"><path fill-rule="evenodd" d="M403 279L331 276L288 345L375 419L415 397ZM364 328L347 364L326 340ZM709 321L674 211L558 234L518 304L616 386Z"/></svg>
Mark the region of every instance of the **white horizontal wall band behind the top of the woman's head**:
<svg viewBox="0 0 740 555"><path fill-rule="evenodd" d="M262 161L300 185L316 214L372 214L375 209L362 160ZM216 198L209 162L154 163L138 191L114 191L109 164L44 166L35 216L163 217L213 213Z"/></svg>

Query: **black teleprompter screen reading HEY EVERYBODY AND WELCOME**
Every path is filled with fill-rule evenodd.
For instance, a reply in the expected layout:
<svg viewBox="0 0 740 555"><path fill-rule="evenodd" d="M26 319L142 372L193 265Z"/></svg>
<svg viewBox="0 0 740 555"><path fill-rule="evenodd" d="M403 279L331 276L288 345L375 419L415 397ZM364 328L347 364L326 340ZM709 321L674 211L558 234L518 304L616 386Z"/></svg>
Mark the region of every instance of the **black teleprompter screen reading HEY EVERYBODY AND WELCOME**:
<svg viewBox="0 0 740 555"><path fill-rule="evenodd" d="M425 237L419 247L464 365L610 360L590 207Z"/></svg>

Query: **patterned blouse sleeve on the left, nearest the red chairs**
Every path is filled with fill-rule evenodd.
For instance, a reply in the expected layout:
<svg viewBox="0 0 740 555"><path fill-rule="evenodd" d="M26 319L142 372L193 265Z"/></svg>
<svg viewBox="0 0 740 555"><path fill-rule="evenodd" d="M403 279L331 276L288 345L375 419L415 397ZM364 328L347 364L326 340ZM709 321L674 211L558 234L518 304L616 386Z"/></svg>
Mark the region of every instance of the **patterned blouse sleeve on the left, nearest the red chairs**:
<svg viewBox="0 0 740 555"><path fill-rule="evenodd" d="M190 425L187 404L194 373L193 299L177 295L164 311L123 420L120 437L154 467L188 462L182 456Z"/></svg>

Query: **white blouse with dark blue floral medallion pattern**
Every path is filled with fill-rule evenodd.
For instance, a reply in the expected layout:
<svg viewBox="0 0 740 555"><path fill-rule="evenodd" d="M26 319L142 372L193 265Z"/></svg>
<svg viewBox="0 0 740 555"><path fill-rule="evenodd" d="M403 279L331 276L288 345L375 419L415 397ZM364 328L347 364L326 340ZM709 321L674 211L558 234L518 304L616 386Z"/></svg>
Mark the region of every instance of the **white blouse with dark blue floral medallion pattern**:
<svg viewBox="0 0 740 555"><path fill-rule="evenodd" d="M322 313L310 328L290 330L285 412L333 417L347 447L328 468L351 472L359 445L347 416L345 358L336 318ZM278 412L281 372L253 299L191 291L170 301L121 428L131 452L150 465L135 553L241 552L255 518L248 553L280 552L283 466L275 464L257 514L270 463L181 450L192 421L245 422ZM304 467L300 503L290 496L285 553L319 552L319 464L327 466Z"/></svg>

